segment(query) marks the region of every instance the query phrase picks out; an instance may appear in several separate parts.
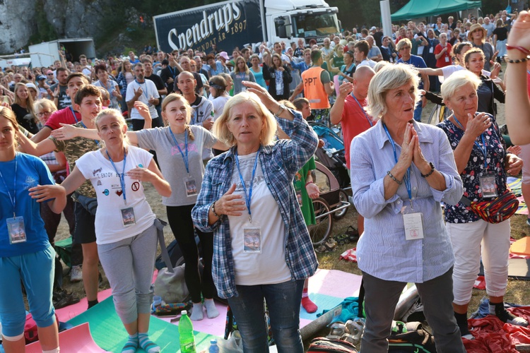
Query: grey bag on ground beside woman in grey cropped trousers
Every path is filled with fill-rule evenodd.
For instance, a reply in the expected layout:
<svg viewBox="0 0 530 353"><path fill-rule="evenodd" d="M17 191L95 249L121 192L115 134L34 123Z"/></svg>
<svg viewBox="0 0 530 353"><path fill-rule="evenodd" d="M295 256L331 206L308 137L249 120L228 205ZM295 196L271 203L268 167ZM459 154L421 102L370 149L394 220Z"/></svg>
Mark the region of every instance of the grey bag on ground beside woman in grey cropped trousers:
<svg viewBox="0 0 530 353"><path fill-rule="evenodd" d="M184 266L173 268L173 273L167 268L158 271L155 295L162 297L166 303L186 303L189 300L189 290L184 280Z"/></svg>

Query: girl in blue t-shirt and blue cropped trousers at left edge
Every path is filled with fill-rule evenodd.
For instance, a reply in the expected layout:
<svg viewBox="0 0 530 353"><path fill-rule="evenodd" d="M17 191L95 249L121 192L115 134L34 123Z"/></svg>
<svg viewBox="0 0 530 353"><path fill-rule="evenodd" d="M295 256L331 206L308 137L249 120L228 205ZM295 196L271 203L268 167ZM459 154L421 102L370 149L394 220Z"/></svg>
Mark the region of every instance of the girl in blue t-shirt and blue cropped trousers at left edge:
<svg viewBox="0 0 530 353"><path fill-rule="evenodd" d="M28 294L45 353L59 352L59 333L52 304L55 251L49 244L40 205L30 196L37 185L54 184L38 157L16 152L18 123L11 109L0 106L0 321L6 353L24 352L25 306L20 282ZM49 206L60 212L64 200Z"/></svg>

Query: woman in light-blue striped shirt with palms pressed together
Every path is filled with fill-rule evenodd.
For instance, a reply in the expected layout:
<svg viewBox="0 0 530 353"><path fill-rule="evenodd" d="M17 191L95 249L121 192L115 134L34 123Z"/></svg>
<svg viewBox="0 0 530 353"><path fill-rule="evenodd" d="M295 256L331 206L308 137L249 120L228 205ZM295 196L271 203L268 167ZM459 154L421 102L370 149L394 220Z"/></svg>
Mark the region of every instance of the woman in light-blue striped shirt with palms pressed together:
<svg viewBox="0 0 530 353"><path fill-rule="evenodd" d="M394 310L407 282L416 283L437 352L465 352L452 311L451 241L440 202L462 196L451 146L435 126L413 121L418 71L388 66L368 88L368 114L380 120L353 138L353 203L365 217L357 246L363 271L363 353L387 352Z"/></svg>

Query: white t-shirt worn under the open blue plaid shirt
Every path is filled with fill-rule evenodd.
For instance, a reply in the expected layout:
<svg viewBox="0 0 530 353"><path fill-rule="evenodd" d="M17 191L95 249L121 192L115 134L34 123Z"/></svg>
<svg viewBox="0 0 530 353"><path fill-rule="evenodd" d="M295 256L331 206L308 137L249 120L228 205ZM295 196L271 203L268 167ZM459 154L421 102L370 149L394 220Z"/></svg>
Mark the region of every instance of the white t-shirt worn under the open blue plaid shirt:
<svg viewBox="0 0 530 353"><path fill-rule="evenodd" d="M252 178L252 168L256 154L238 156L241 174L245 180L247 194ZM231 184L236 184L234 195L242 195L245 200L237 166L234 165ZM285 262L285 225L280 214L278 203L273 198L266 185L261 163L258 162L252 187L253 225L261 227L261 241L254 239L256 246L261 244L261 253L245 252L243 228L249 221L248 211L241 216L228 216L230 222L230 237L232 239L232 256L234 258L236 285L273 285L287 282L291 279L290 270Z"/></svg>

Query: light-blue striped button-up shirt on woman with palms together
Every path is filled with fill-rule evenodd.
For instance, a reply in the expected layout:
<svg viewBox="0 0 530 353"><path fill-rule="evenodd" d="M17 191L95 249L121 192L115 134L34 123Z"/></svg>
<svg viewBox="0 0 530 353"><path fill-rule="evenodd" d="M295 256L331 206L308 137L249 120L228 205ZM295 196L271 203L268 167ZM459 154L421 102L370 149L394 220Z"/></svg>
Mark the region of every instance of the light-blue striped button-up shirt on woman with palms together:
<svg viewBox="0 0 530 353"><path fill-rule="evenodd" d="M360 270L382 280L422 283L452 267L454 255L440 201L455 205L462 196L462 181L442 129L413 122L425 160L442 173L447 189L432 189L411 165L413 208L423 213L423 239L406 240L401 209L410 206L405 183L384 200L384 177L396 164L383 124L353 138L351 186L353 202L365 217L365 232L357 245ZM399 158L401 146L396 145Z"/></svg>

